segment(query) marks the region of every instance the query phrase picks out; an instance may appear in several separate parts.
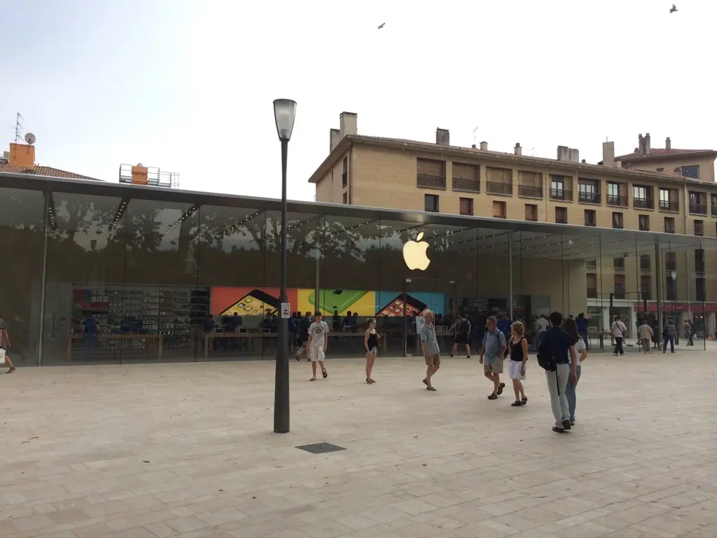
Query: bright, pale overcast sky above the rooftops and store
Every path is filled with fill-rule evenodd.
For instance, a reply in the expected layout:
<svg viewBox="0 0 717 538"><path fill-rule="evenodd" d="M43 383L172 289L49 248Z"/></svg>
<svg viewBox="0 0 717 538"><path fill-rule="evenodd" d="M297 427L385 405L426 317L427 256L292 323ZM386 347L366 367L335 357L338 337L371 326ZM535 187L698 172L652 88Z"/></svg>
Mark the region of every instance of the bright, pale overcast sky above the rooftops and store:
<svg viewBox="0 0 717 538"><path fill-rule="evenodd" d="M671 1L0 0L0 143L15 114L37 164L118 181L280 197L272 101L298 103L288 197L311 200L343 110L359 134L554 159L602 142L717 148L717 3ZM383 29L376 27L386 23Z"/></svg>

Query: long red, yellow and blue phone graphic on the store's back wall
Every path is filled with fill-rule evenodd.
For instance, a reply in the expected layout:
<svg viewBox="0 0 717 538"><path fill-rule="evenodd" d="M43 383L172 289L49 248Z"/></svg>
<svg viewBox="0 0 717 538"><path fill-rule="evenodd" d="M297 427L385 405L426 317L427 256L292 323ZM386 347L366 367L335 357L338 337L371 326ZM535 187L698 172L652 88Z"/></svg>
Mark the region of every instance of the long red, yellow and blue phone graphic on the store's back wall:
<svg viewBox="0 0 717 538"><path fill-rule="evenodd" d="M447 313L444 293L416 292L407 295L404 305L400 291L364 291L364 290L319 290L318 301L314 290L289 289L287 291L291 311L315 312L319 309L331 316L338 311L346 316L348 311L359 316L403 316L404 308L408 316L417 316L430 309L437 313ZM278 288L212 288L210 310L214 316L260 316L279 309Z"/></svg>

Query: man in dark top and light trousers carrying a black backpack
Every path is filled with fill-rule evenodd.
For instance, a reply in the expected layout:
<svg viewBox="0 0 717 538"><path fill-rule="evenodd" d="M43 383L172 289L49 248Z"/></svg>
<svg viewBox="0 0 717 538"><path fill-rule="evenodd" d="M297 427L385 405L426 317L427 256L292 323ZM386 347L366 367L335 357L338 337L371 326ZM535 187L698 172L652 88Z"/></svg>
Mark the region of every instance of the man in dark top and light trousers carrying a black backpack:
<svg viewBox="0 0 717 538"><path fill-rule="evenodd" d="M546 368L546 379L550 391L550 405L553 408L555 433L565 433L570 429L570 408L565 389L568 384L568 377L571 377L573 384L577 384L577 356L575 354L574 337L567 334L560 328L563 323L563 315L553 312L549 316L551 328L546 331L538 349L538 362L551 364L555 369Z"/></svg>

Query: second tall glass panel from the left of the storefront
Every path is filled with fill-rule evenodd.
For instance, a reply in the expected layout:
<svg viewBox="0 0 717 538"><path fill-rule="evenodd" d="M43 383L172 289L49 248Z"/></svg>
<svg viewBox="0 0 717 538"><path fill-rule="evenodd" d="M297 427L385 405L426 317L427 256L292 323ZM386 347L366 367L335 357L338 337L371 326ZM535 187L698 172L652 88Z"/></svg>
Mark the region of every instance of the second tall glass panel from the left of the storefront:
<svg viewBox="0 0 717 538"><path fill-rule="evenodd" d="M125 316L127 200L51 192L47 205L42 363L118 363L125 349L156 350Z"/></svg>

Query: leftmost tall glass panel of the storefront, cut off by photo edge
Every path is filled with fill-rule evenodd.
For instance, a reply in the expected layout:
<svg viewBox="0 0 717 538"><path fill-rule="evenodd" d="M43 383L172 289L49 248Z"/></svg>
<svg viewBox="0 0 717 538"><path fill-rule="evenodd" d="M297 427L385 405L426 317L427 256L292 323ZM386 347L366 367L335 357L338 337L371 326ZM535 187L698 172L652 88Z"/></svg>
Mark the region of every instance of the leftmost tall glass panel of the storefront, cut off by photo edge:
<svg viewBox="0 0 717 538"><path fill-rule="evenodd" d="M0 318L16 366L37 365L45 197L41 191L0 189Z"/></svg>

